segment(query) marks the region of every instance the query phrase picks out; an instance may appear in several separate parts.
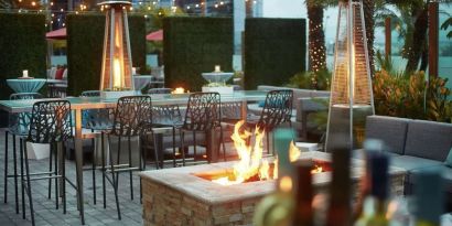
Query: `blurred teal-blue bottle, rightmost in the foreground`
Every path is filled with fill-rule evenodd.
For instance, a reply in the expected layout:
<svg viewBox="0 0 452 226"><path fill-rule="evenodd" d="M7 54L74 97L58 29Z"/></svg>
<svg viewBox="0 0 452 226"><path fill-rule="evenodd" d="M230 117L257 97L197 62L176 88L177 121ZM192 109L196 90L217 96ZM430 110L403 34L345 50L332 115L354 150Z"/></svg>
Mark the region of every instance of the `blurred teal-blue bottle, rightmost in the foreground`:
<svg viewBox="0 0 452 226"><path fill-rule="evenodd" d="M413 173L415 226L439 226L444 211L444 187L441 171L422 170Z"/></svg>

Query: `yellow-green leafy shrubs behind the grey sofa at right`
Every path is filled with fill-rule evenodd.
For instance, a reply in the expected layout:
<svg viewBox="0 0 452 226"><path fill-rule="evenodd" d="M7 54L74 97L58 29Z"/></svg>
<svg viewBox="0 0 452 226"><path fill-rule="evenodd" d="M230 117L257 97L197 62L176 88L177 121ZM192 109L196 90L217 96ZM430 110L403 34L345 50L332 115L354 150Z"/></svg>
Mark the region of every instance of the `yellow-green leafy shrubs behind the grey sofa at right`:
<svg viewBox="0 0 452 226"><path fill-rule="evenodd" d="M376 72L374 85L375 112L412 119L451 122L451 90L445 87L446 78L430 78L426 82L423 72L411 75L391 75Z"/></svg>

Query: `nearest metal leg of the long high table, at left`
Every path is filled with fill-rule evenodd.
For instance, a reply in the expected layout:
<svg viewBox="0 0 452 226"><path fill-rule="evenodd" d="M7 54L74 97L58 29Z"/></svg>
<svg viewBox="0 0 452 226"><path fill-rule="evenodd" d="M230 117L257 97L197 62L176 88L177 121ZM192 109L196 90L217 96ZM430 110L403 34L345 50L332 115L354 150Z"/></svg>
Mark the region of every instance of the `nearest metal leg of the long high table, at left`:
<svg viewBox="0 0 452 226"><path fill-rule="evenodd" d="M84 193L83 193L83 147L82 147L82 110L75 109L75 164L77 177L77 204L82 224L85 225Z"/></svg>

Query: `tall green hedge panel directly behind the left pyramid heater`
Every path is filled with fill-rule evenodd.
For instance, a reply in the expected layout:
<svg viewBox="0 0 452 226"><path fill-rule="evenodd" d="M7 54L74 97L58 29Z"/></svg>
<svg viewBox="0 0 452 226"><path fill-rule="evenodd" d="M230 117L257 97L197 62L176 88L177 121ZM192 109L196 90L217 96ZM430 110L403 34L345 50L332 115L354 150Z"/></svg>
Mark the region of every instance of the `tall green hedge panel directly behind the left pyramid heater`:
<svg viewBox="0 0 452 226"><path fill-rule="evenodd" d="M105 14L68 14L67 66L68 94L98 90L104 47ZM132 65L146 67L146 21L142 15L129 15Z"/></svg>

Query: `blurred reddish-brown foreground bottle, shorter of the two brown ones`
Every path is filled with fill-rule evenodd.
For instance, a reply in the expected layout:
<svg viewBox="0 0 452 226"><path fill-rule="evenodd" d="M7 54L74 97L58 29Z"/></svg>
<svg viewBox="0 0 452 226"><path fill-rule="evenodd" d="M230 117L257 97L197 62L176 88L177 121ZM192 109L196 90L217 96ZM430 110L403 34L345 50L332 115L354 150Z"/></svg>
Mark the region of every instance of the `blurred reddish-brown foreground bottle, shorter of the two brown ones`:
<svg viewBox="0 0 452 226"><path fill-rule="evenodd" d="M295 165L295 184L294 184L294 209L292 226L312 226L313 208L312 208L312 173L313 162L311 160L302 160Z"/></svg>

